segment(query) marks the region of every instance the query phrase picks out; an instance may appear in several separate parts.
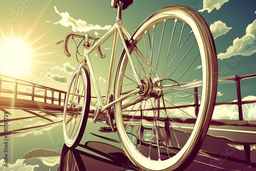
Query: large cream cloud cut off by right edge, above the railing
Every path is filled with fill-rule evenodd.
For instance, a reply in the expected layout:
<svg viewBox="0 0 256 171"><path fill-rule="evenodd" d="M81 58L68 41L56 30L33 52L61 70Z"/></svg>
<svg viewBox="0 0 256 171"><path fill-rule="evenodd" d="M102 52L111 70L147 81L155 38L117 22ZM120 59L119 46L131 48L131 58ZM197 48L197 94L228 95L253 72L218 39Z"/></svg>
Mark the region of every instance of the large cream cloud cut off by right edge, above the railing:
<svg viewBox="0 0 256 171"><path fill-rule="evenodd" d="M229 58L235 55L250 56L256 52L256 19L247 26L246 34L233 40L225 53L218 54L219 59Z"/></svg>

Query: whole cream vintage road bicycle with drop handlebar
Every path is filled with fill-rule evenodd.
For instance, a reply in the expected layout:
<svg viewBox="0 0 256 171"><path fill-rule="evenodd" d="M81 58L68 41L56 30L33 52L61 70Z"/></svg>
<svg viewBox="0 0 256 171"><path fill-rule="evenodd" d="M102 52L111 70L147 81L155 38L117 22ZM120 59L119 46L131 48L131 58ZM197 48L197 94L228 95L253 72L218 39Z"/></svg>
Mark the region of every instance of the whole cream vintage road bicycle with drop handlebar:
<svg viewBox="0 0 256 171"><path fill-rule="evenodd" d="M82 61L73 73L65 100L65 143L76 147L83 136L92 81L99 102L93 122L100 114L105 115L111 131L117 131L127 157L142 170L181 170L199 152L214 110L218 80L214 39L202 16L183 6L169 6L153 13L131 36L121 22L121 12L133 3L134 0L111 1L112 8L117 8L117 17L102 37L68 33L63 40L63 49L71 56L69 38L84 39ZM112 35L103 101L89 54L97 49L104 58L100 46ZM111 82L118 37L123 51L113 96Z"/></svg>

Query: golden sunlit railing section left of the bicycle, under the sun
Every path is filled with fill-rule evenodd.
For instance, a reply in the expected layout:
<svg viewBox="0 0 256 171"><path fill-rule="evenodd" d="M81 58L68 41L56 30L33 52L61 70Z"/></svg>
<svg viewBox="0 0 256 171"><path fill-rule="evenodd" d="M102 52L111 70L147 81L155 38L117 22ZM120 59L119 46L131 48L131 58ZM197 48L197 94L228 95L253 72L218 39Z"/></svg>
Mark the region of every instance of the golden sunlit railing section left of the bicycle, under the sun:
<svg viewBox="0 0 256 171"><path fill-rule="evenodd" d="M0 98L64 105L67 92L0 75Z"/></svg>

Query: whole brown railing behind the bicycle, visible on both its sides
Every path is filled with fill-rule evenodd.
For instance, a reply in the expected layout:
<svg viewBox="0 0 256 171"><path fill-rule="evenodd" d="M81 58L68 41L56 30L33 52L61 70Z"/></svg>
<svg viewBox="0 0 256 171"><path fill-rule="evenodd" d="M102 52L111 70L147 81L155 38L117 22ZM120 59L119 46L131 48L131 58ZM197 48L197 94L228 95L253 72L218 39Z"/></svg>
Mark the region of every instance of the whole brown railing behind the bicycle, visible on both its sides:
<svg viewBox="0 0 256 171"><path fill-rule="evenodd" d="M239 120L244 120L243 117L243 104L249 103L256 103L256 100L243 100L241 98L241 85L240 81L243 79L255 78L255 74L248 74L248 75L236 75L234 77L228 78L220 78L218 82L225 82L225 81L235 81L236 82L236 90L237 90L237 100L236 101L226 101L226 102L216 102L215 105L237 105L238 106L238 115ZM189 106L195 108L195 115L199 111L199 98L198 94L196 93L198 90L194 88L194 104ZM67 92L60 91L57 89L52 89L50 87L41 86L39 84L35 84L28 81L23 81L20 79L15 79L7 76L0 75L0 98L14 98L14 99L27 99L31 101L37 102L44 102L48 104L58 104L62 105L65 102ZM96 98L96 97L92 97ZM179 106L179 108L187 108L186 106ZM175 107L174 107L175 108Z"/></svg>

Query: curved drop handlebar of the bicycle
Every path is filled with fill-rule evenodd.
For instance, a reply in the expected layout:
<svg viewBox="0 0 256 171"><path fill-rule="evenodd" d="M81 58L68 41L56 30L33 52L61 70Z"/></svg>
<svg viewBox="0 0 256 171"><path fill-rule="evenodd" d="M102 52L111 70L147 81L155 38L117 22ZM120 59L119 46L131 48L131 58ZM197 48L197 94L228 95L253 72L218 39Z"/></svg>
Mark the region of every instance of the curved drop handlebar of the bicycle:
<svg viewBox="0 0 256 171"><path fill-rule="evenodd" d="M78 33L68 33L64 40L60 40L59 42L57 42L57 44L60 44L60 42L64 41L64 44L63 44L63 49L64 49L64 52L65 54L70 57L71 54L69 53L69 49L68 49L68 41L69 41L69 38L70 37L79 37L79 38L86 38L86 35L83 35L83 34L78 34ZM94 40L99 40L101 37L99 36L89 36L89 39L94 39ZM98 55L103 59L106 55L104 53L101 52L101 48L100 46L97 48L97 53Z"/></svg>

